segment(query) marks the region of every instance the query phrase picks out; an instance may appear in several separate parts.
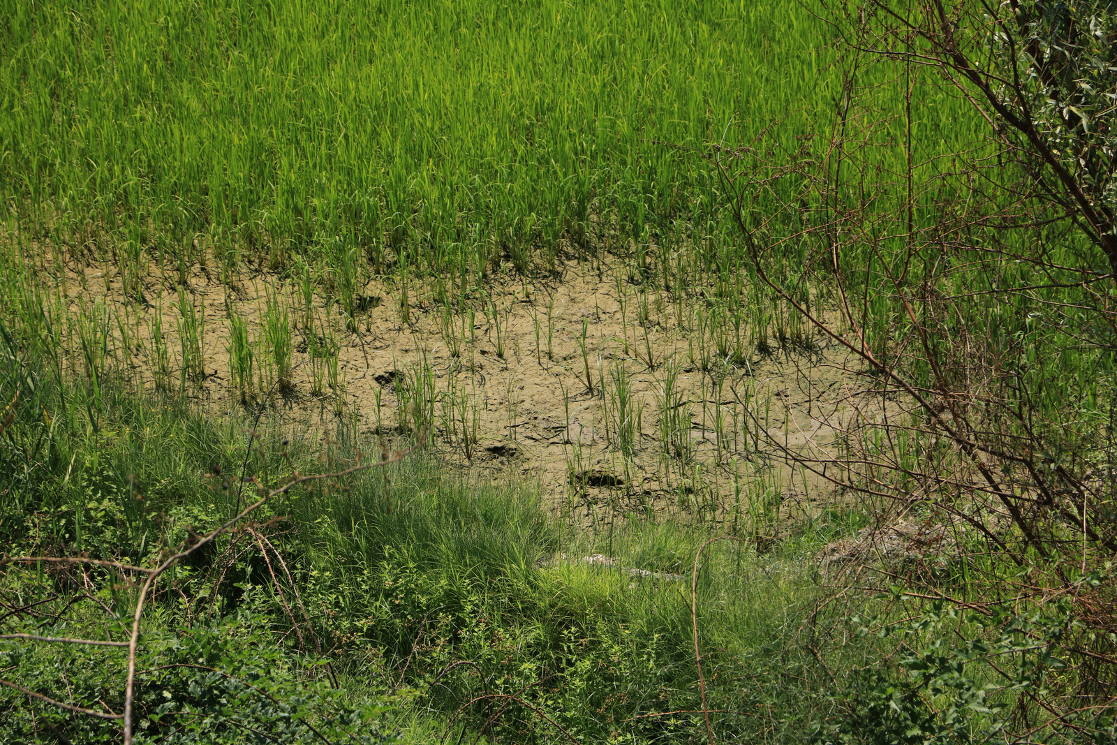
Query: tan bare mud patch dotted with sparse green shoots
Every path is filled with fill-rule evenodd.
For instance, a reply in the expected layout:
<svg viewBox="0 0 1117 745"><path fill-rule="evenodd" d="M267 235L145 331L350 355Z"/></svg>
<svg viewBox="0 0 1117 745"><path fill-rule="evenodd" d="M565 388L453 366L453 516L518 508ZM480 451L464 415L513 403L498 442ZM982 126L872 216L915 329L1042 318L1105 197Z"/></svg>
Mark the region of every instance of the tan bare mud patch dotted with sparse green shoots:
<svg viewBox="0 0 1117 745"><path fill-rule="evenodd" d="M249 409L276 407L323 431L332 417L344 417L382 442L429 422L431 447L449 467L537 483L553 509L581 522L814 512L838 500L832 484L790 467L772 445L821 452L833 445L836 427L879 405L860 398L848 357L822 337L766 355L750 337L748 354L732 364L718 360L696 324L707 309L700 298L675 303L620 265L570 262L547 281L498 277L485 293L467 290L465 307L439 302L445 288L437 279L412 280L407 293L392 278L371 280L355 297L355 324L326 299L328 277L315 277L309 309L279 275L226 279L195 270L184 295L203 319L206 371L184 390L204 405L244 408L247 393ZM180 386L178 275L150 270L142 302L123 300L113 267L69 271L60 292L64 345L76 371L76 329L107 308L116 319L108 333L117 367L147 386ZM269 295L286 308L294 350L292 384L281 394L262 331ZM160 315L171 366L163 380ZM246 322L254 345L257 369L246 391L231 384L231 317ZM336 354L336 378L316 348Z"/></svg>

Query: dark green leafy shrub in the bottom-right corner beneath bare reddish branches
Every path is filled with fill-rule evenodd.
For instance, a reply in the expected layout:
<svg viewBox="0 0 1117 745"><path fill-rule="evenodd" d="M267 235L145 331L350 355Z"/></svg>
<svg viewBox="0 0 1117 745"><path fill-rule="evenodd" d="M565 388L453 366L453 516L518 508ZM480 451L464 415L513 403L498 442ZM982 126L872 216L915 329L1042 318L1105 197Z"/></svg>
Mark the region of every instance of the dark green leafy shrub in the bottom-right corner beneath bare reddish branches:
<svg viewBox="0 0 1117 745"><path fill-rule="evenodd" d="M1097 586L1105 579L1095 573L1080 584ZM914 600L896 592L898 600ZM1048 722L1052 684L1068 668L1059 655L1076 625L1071 609L1067 598L1028 613L1004 605L963 611L936 601L900 624L853 618L858 637L896 640L892 662L852 671L841 696L844 714L817 725L814 742L1113 742L1113 708L1104 700Z"/></svg>

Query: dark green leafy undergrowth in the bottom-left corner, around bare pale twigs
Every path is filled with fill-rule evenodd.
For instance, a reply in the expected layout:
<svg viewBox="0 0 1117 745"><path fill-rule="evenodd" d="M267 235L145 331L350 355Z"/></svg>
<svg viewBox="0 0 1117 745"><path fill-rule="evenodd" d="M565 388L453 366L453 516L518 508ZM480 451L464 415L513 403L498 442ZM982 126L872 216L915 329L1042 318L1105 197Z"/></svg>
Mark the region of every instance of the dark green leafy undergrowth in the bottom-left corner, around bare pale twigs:
<svg viewBox="0 0 1117 745"><path fill-rule="evenodd" d="M378 727L388 711L380 701L332 688L325 668L277 644L269 628L265 617L240 612L147 636L136 687L135 742L397 742L397 735ZM0 666L25 688L120 711L123 651L0 643ZM0 711L6 743L121 737L118 722L63 711L11 688L0 689Z"/></svg>

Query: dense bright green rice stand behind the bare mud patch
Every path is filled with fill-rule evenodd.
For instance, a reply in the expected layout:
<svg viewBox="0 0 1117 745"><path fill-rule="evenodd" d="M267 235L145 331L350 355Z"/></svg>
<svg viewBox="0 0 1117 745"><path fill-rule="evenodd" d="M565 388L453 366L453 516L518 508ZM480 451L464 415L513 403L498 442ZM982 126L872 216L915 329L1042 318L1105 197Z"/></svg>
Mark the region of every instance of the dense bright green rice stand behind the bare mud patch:
<svg viewBox="0 0 1117 745"><path fill-rule="evenodd" d="M775 122L792 147L832 124L840 78L812 10L9 2L0 198L34 236L128 267L146 250L183 278L210 255L321 258L350 325L356 259L383 273L404 248L465 285L502 257L553 266L561 238L632 246L641 271L684 283L739 262L717 178L686 149ZM928 155L957 152L961 104L923 94ZM672 245L695 250L657 250Z"/></svg>

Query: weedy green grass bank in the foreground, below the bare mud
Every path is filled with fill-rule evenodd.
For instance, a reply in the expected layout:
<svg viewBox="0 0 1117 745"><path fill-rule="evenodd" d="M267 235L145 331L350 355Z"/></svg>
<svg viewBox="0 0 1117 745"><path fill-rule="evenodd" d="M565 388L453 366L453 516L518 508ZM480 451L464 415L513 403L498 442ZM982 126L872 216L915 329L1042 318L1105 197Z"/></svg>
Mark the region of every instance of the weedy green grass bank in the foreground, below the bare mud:
<svg viewBox="0 0 1117 745"><path fill-rule="evenodd" d="M77 388L35 382L3 432L9 560L144 564L235 513L242 467L270 487L375 447L344 428L323 443L270 417L213 421L114 385L94 427L73 403ZM311 727L331 742L397 730L433 742L447 729L554 742L556 728L580 742L700 738L690 580L709 537L672 523L570 533L529 490L448 478L418 452L295 489L161 581L144 617L136 742L247 742L245 726L265 733L259 742ZM833 614L818 614L811 545L758 555L719 542L703 553L698 629L719 736L805 742L806 724L837 706L809 649L831 665L861 652L838 646ZM583 560L596 554L618 566ZM122 580L98 566L7 563L3 631L120 639L136 596ZM25 689L120 710L123 650L0 643ZM114 722L11 688L0 696L13 742L118 736Z"/></svg>

